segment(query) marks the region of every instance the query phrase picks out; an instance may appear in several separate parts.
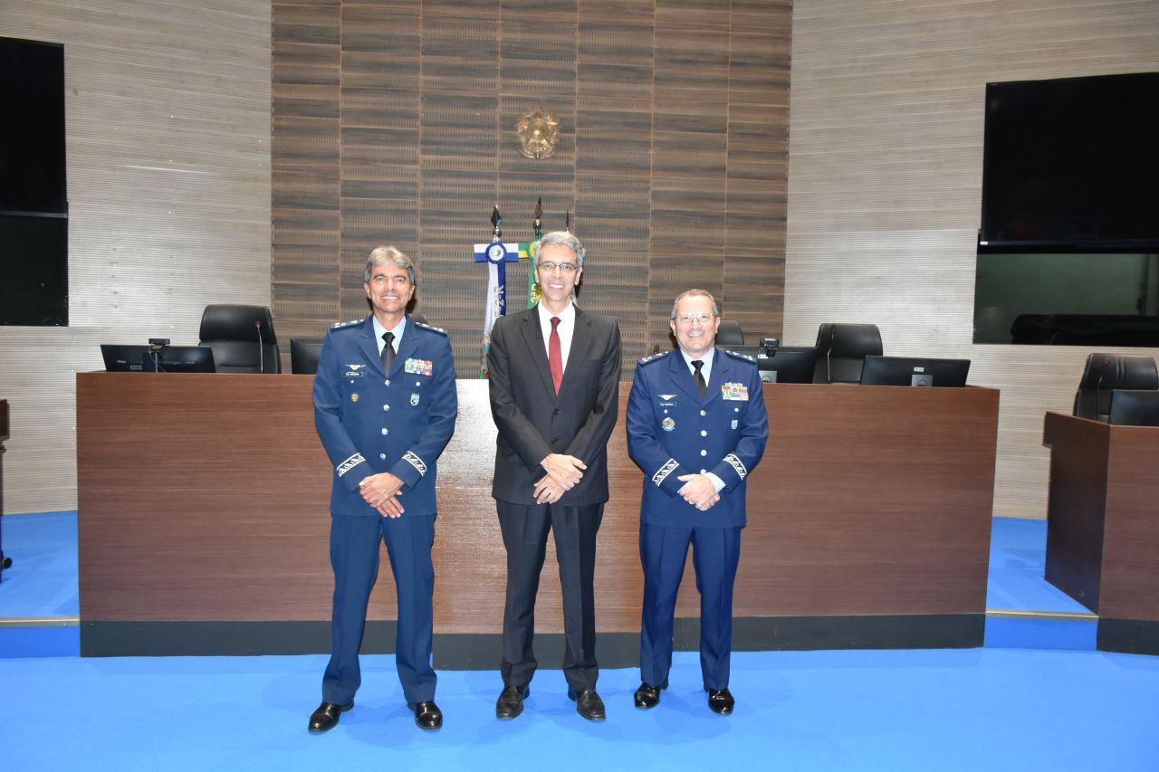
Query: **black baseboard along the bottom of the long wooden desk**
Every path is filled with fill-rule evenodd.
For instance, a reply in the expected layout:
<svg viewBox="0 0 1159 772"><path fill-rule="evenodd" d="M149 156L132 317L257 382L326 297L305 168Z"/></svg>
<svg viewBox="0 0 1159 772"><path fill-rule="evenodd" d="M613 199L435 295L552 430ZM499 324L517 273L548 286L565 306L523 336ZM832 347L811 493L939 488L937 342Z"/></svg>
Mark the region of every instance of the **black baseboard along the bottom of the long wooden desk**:
<svg viewBox="0 0 1159 772"><path fill-rule="evenodd" d="M1102 624L1100 622L1100 641ZM983 613L743 617L732 624L732 650L976 648L983 644L984 634ZM1154 633L1151 635L1153 640ZM394 636L395 622L369 621L362 653L393 654ZM700 648L700 620L677 619L673 644L678 651L697 651ZM81 620L80 624L80 653L86 657L246 656L329 651L329 621ZM640 664L640 634L600 633L596 651L600 667L635 668ZM535 635L535 657L544 668L559 668L563 661L563 635ZM435 635L433 660L439 670L497 670L502 658L502 635L498 633Z"/></svg>

